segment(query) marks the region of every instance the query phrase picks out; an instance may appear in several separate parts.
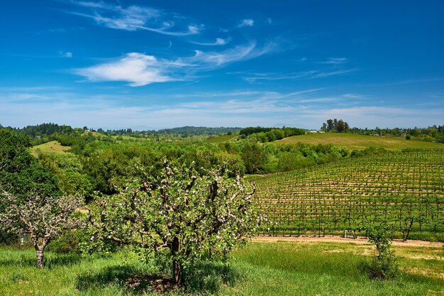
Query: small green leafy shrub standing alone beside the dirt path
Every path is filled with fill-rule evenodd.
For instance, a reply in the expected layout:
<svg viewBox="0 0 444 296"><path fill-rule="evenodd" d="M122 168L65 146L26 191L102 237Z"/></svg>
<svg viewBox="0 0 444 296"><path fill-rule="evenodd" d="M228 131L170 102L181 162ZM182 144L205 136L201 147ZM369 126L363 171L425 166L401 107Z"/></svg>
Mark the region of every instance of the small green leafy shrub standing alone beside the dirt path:
<svg viewBox="0 0 444 296"><path fill-rule="evenodd" d="M369 225L366 227L367 236L370 243L374 243L377 256L372 258L370 263L366 263L366 270L370 278L381 280L396 278L399 274L396 255L390 249L392 243L387 239L389 226L380 224L379 226Z"/></svg>

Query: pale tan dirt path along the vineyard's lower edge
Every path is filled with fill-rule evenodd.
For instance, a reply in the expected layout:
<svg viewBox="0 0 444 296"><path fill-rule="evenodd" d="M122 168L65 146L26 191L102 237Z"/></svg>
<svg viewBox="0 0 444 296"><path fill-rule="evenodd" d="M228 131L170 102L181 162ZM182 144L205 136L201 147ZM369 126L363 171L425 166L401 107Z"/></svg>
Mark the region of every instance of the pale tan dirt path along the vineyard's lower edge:
<svg viewBox="0 0 444 296"><path fill-rule="evenodd" d="M258 241L264 243L274 243L277 241L286 242L299 242L299 243L319 243L319 242L331 242L331 243L356 243L367 244L368 240L364 237L358 237L357 239L343 238L341 236L325 236L325 237L307 237L307 236L255 236L251 241ZM444 243L438 243L433 241L392 241L393 246L421 246L421 247L435 247L440 248L444 246Z"/></svg>

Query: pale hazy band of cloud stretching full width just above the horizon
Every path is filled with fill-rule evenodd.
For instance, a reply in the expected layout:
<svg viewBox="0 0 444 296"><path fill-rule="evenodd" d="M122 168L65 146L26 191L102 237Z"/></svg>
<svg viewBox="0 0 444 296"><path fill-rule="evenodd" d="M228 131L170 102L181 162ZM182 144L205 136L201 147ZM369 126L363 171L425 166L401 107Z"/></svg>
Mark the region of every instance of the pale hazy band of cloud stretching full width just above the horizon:
<svg viewBox="0 0 444 296"><path fill-rule="evenodd" d="M46 87L42 87L45 89ZM40 87L35 87L40 90ZM1 89L0 89L1 91ZM299 126L318 128L328 118L342 118L350 126L413 127L440 122L444 109L421 106L382 106L372 104L338 107L321 102L335 97L310 97L316 89L295 92L234 90L231 92L177 94L194 98L174 99L174 94L78 94L32 92L32 89L4 89L1 94L1 124L26 126L55 122L94 128L165 128L174 126ZM9 92L9 94L8 94ZM359 96L358 94L355 94ZM302 103L306 99L317 102ZM346 97L346 94L338 96ZM217 99L216 99L217 98ZM172 102L167 102L172 99ZM123 105L123 102L133 102ZM365 103L364 103L365 104ZM228 124L227 124L228 123Z"/></svg>

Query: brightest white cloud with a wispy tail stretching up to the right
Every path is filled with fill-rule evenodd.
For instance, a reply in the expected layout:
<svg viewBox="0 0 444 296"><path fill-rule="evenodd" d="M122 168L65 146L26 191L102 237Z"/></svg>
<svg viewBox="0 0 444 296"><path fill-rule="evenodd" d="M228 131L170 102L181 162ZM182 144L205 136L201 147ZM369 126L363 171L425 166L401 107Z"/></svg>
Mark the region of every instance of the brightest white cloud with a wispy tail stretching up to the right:
<svg viewBox="0 0 444 296"><path fill-rule="evenodd" d="M269 53L275 48L267 44L257 48L256 43L238 45L221 52L196 50L190 57L176 60L159 59L143 53L128 53L111 62L74 70L74 74L92 82L123 81L132 87L155 82L189 80L199 71L215 70L232 62L250 60Z"/></svg>

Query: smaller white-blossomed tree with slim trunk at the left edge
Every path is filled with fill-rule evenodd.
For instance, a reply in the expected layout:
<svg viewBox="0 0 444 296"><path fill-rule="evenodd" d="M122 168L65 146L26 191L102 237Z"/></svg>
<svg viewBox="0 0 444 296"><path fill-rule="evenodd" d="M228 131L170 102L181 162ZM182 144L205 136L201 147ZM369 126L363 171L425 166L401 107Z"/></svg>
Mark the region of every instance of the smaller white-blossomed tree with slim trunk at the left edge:
<svg viewBox="0 0 444 296"><path fill-rule="evenodd" d="M37 267L43 268L45 247L67 229L78 228L82 219L73 212L82 206L82 197L31 194L26 201L3 192L4 209L0 212L0 228L9 233L28 234L37 253Z"/></svg>

